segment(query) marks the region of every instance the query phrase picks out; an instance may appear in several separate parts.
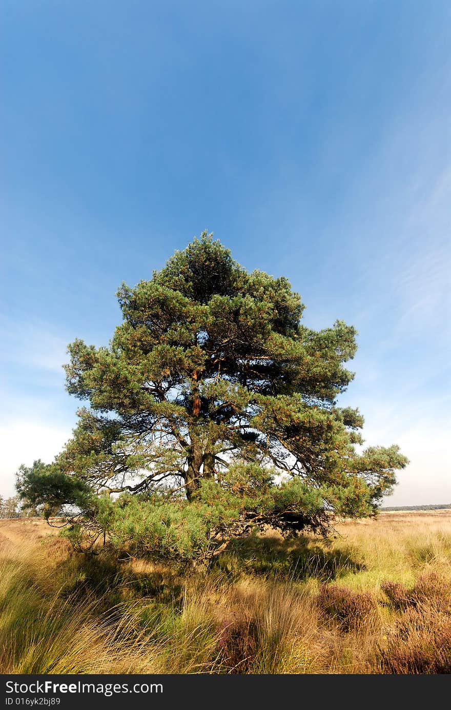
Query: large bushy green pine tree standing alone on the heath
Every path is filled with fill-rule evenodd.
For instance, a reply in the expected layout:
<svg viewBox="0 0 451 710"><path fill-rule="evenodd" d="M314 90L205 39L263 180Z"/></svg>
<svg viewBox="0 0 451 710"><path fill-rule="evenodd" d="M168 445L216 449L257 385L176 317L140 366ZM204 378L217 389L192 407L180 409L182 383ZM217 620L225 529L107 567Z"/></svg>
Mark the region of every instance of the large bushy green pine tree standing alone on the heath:
<svg viewBox="0 0 451 710"><path fill-rule="evenodd" d="M254 526L327 533L376 511L408 461L361 450L362 415L337 405L354 327L305 327L286 278L248 273L207 232L117 296L109 346L68 348L67 391L87 406L53 464L23 468L25 501L187 558Z"/></svg>

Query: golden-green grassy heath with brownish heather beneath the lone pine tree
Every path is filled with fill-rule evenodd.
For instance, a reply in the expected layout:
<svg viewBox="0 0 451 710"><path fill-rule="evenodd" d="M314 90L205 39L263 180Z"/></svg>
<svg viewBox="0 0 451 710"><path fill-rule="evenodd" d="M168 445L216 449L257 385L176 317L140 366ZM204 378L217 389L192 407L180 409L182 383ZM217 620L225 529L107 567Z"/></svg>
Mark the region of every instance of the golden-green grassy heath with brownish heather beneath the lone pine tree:
<svg viewBox="0 0 451 710"><path fill-rule="evenodd" d="M0 520L1 673L450 673L451 510L236 542L210 574Z"/></svg>

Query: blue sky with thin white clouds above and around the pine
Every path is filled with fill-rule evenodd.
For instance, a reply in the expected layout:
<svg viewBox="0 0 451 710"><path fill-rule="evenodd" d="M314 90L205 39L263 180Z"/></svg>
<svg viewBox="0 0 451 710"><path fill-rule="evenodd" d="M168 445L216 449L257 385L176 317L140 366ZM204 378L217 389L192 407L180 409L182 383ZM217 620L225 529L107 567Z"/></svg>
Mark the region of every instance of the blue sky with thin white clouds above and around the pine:
<svg viewBox="0 0 451 710"><path fill-rule="evenodd" d="M357 327L341 402L411 459L386 505L451 503L450 3L4 0L0 31L0 493L75 425L67 343L209 229Z"/></svg>

